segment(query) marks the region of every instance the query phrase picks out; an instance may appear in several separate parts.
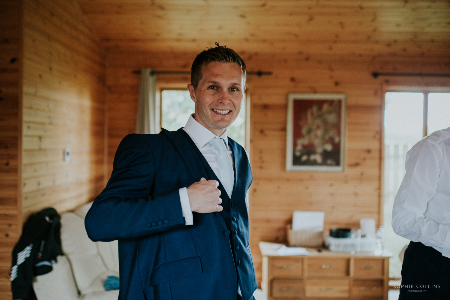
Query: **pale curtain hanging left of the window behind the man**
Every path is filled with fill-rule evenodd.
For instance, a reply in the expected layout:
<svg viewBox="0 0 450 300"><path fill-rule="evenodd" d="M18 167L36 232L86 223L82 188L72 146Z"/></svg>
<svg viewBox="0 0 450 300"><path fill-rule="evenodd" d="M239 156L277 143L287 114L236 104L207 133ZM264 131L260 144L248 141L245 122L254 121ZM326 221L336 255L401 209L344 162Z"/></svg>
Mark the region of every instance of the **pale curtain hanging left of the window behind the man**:
<svg viewBox="0 0 450 300"><path fill-rule="evenodd" d="M136 133L159 133L159 102L156 97L156 74L150 68L141 70Z"/></svg>

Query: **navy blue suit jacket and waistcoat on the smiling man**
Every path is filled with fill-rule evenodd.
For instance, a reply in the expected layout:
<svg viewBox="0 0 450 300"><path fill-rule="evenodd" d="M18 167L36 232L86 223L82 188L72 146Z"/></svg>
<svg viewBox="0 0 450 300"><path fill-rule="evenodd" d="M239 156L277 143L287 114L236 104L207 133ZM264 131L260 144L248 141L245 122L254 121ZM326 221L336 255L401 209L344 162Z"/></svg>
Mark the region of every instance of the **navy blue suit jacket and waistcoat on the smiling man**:
<svg viewBox="0 0 450 300"><path fill-rule="evenodd" d="M224 210L193 213L186 226L178 190L218 180L184 130L129 134L120 143L106 188L85 218L93 241L119 241L119 300L236 299L257 287L248 241L245 194L252 172L232 139L235 181ZM219 181L219 180L218 180Z"/></svg>

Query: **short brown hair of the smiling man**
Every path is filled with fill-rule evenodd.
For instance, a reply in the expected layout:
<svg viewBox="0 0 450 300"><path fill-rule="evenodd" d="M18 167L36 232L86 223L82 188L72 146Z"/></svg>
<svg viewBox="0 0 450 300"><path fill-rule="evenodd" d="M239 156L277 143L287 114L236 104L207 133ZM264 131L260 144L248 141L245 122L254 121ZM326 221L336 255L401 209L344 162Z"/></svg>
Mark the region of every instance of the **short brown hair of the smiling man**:
<svg viewBox="0 0 450 300"><path fill-rule="evenodd" d="M191 85L193 85L194 90L197 89L198 82L202 79L202 66L206 67L211 62L237 63L243 72L244 82L247 79L247 68L242 58L226 45L220 46L217 42L214 44L216 44L216 47L208 47L207 50L203 50L192 63Z"/></svg>

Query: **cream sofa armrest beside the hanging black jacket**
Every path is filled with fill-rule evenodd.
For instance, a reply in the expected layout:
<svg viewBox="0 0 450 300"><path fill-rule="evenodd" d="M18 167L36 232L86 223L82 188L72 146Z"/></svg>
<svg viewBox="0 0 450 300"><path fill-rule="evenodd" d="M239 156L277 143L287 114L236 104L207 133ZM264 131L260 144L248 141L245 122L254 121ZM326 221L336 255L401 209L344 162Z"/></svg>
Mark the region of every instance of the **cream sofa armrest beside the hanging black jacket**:
<svg viewBox="0 0 450 300"><path fill-rule="evenodd" d="M66 256L58 256L50 273L36 276L33 289L38 300L79 300L72 268Z"/></svg>

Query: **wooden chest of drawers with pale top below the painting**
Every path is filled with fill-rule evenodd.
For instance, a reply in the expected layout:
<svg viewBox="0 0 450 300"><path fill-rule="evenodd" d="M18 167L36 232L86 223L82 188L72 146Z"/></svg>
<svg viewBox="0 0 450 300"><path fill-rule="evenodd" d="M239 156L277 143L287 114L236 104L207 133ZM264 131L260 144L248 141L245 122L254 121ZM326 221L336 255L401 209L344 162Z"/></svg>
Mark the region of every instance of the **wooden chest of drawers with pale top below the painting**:
<svg viewBox="0 0 450 300"><path fill-rule="evenodd" d="M387 300L392 254L309 249L310 255L279 256L277 245L259 244L267 300Z"/></svg>

